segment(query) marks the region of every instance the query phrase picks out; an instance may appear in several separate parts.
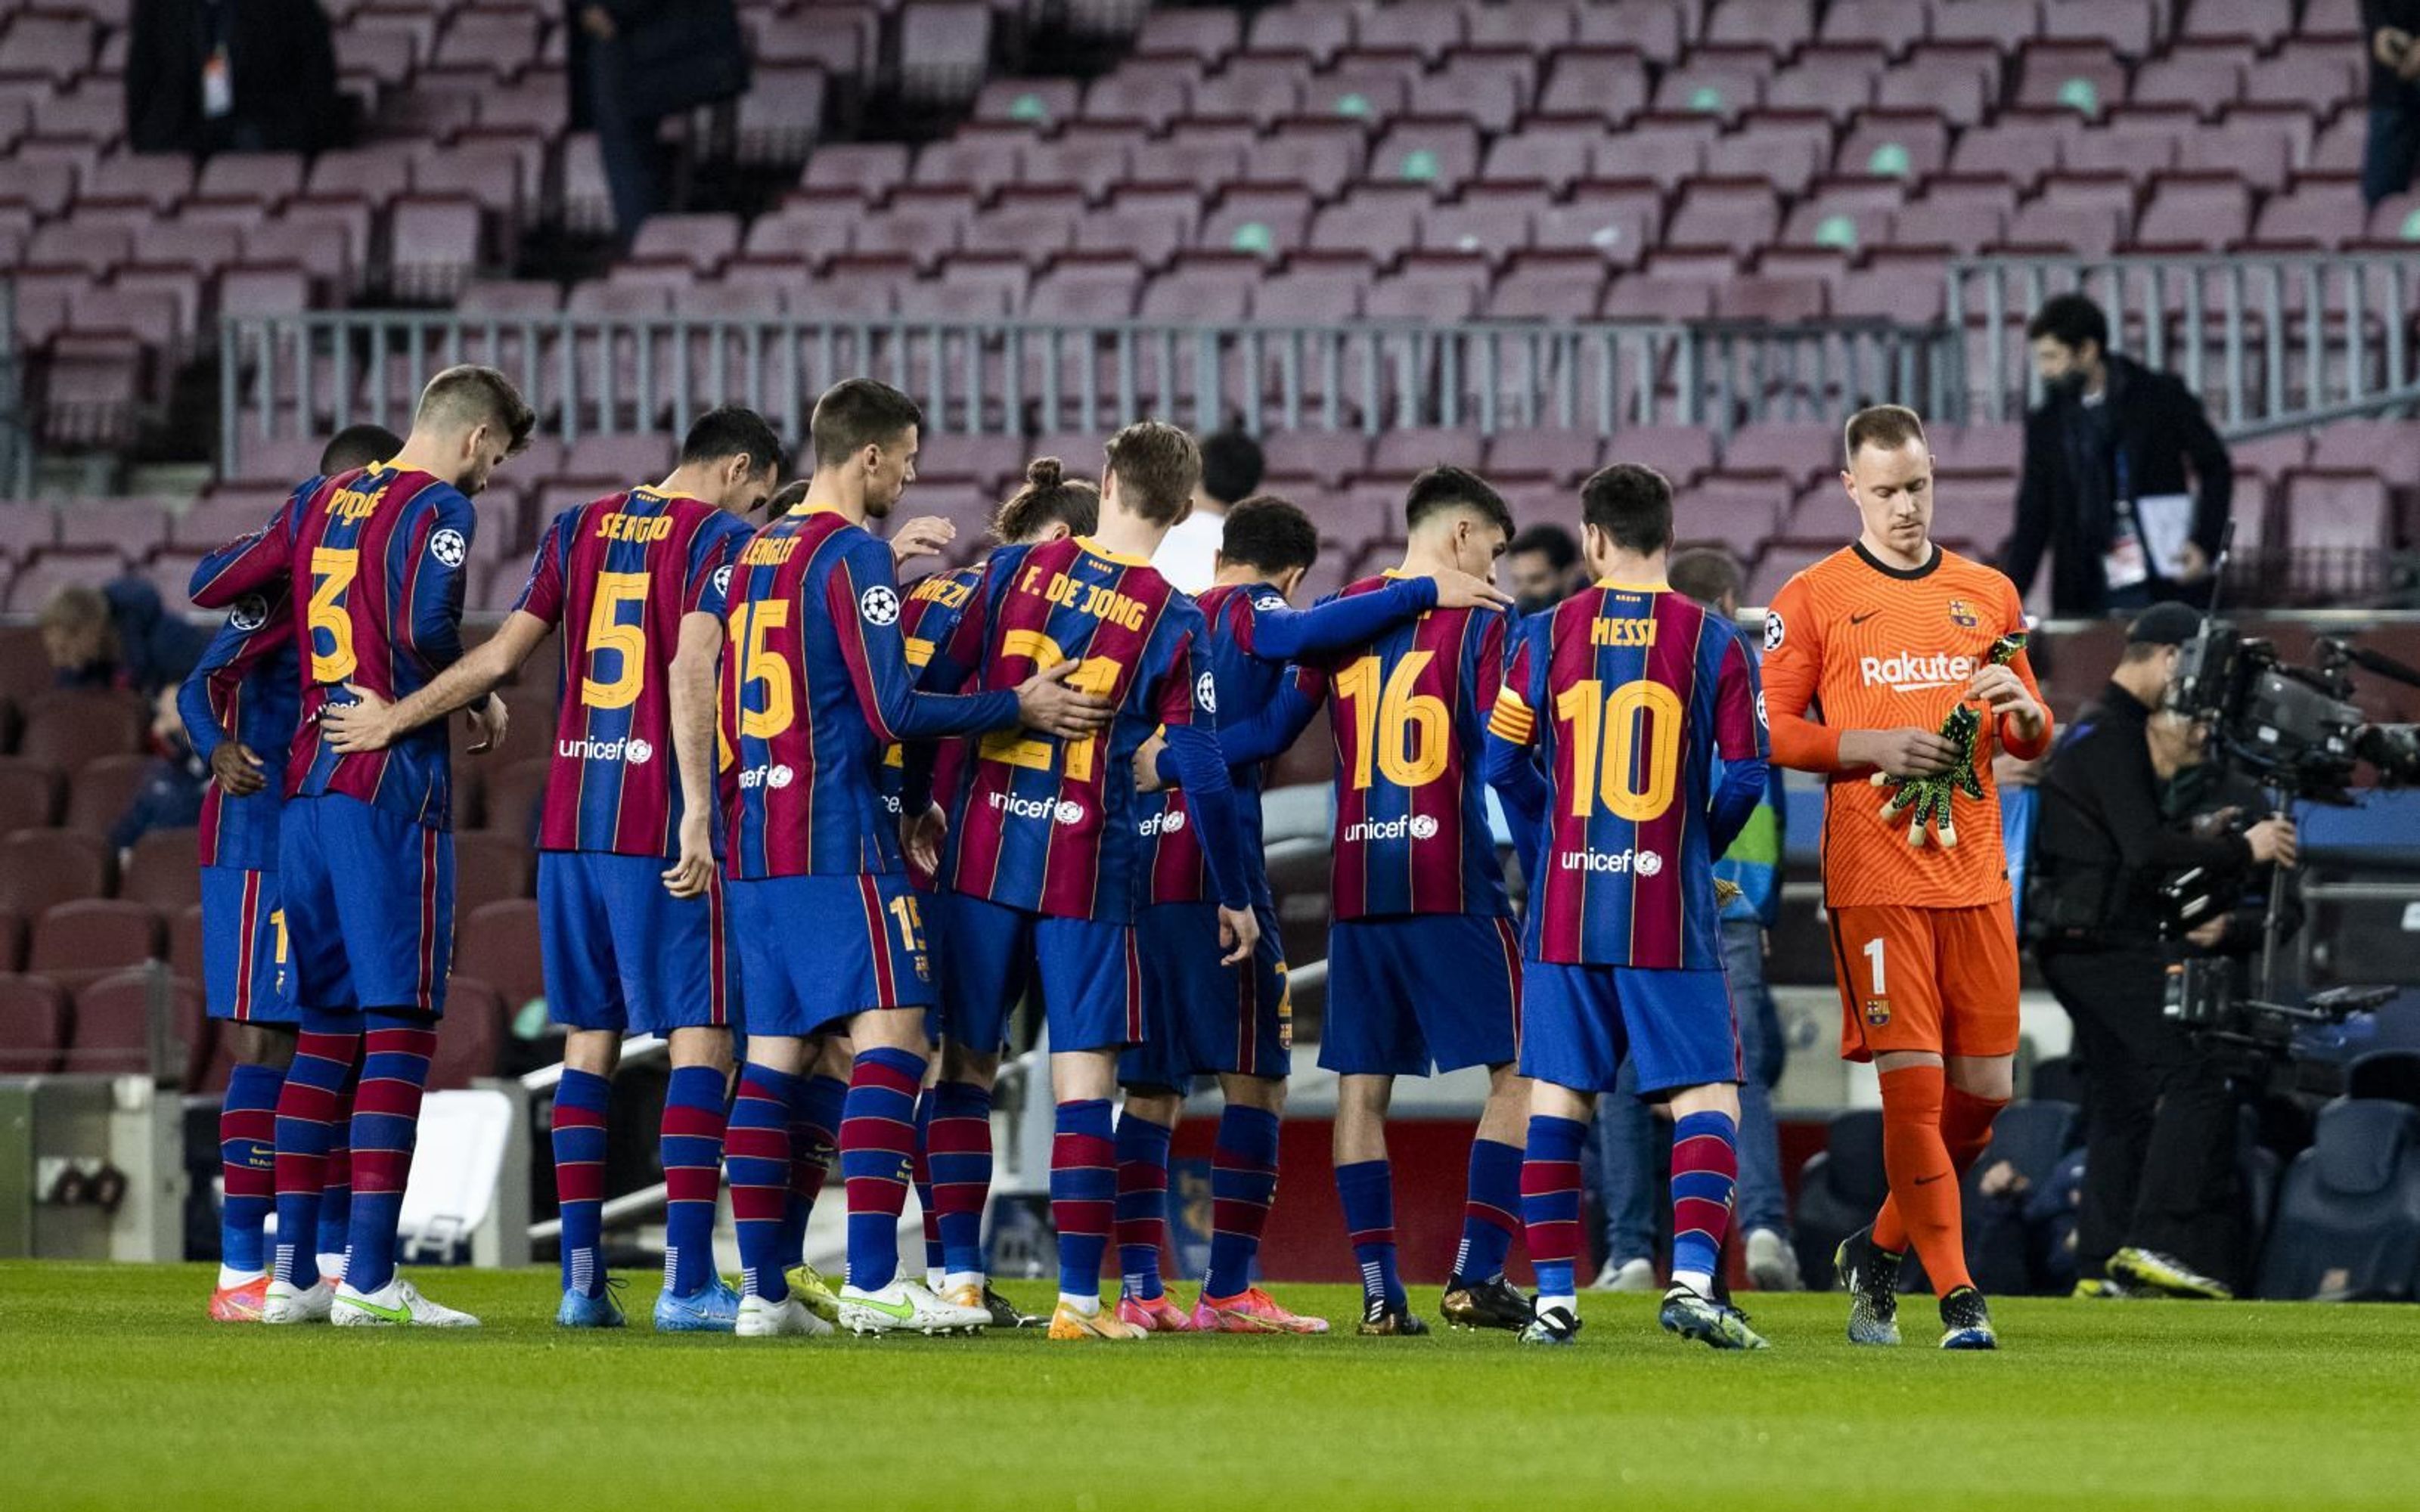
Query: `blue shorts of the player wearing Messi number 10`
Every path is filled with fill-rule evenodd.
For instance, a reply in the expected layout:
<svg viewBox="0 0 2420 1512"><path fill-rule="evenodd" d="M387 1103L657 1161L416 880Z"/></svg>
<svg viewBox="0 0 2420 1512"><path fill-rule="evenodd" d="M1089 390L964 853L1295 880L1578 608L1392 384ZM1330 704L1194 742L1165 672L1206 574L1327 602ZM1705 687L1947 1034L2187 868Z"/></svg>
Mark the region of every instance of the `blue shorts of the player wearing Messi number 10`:
<svg viewBox="0 0 2420 1512"><path fill-rule="evenodd" d="M1740 1021L1716 970L1522 963L1520 1074L1571 1091L1614 1091L1631 1060L1638 1096L1740 1081Z"/></svg>

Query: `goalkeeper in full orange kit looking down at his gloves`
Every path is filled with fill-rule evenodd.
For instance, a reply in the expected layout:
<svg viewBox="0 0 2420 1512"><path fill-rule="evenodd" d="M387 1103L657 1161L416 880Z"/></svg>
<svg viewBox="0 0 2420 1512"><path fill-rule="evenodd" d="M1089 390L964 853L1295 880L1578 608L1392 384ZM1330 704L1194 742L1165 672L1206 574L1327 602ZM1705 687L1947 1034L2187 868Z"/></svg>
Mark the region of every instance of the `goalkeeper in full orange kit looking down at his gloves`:
<svg viewBox="0 0 2420 1512"><path fill-rule="evenodd" d="M1849 1338L1895 1345L1909 1246L1941 1297L1941 1347L1996 1347L1965 1265L1958 1178L1992 1142L2016 1060L2016 924L1994 745L2050 748L2026 610L1994 569L1931 539L1924 421L1849 419L1856 544L1791 578L1764 622L1774 762L1825 774L1822 873L1842 1055L1883 1079L1890 1198L1839 1256Z"/></svg>

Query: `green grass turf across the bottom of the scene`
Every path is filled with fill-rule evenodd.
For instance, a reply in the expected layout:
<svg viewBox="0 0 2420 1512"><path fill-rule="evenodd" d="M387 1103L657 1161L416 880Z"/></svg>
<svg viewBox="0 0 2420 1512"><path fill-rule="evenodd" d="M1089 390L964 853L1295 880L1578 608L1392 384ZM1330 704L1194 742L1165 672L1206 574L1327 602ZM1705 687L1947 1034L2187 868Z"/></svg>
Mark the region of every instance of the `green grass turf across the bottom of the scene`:
<svg viewBox="0 0 2420 1512"><path fill-rule="evenodd" d="M0 1265L0 1507L2410 1507L2420 1430L2415 1306L2004 1302L2006 1350L1941 1355L1924 1299L1885 1352L1776 1297L1716 1355L1588 1297L1571 1350L1120 1350L564 1333L552 1272L424 1272L474 1333L230 1328L208 1277Z"/></svg>

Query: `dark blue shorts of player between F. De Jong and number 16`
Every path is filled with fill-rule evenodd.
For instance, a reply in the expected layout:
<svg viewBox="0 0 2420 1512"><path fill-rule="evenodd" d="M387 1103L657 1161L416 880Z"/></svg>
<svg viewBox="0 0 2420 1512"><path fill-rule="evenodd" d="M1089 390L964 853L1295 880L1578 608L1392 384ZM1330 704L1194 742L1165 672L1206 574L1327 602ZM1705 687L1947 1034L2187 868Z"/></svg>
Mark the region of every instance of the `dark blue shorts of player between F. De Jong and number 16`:
<svg viewBox="0 0 2420 1512"><path fill-rule="evenodd" d="M1176 1086L1237 1072L1285 1077L1295 1002L1285 992L1278 914L1254 910L1261 943L1246 965L1222 965L1215 902L1159 902L1135 917L1142 953L1142 1043L1118 1057L1123 1086Z"/></svg>

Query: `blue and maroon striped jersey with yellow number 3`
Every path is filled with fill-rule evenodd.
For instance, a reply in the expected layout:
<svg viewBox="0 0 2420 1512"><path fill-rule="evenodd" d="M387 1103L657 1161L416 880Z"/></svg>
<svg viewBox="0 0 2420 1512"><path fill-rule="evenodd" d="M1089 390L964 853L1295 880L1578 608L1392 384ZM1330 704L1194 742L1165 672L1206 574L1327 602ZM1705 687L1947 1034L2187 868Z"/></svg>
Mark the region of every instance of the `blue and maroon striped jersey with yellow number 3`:
<svg viewBox="0 0 2420 1512"><path fill-rule="evenodd" d="M201 559L194 602L223 610L290 583L302 605L302 706L286 796L341 793L416 823L453 825L445 721L387 750L336 755L319 711L344 685L397 702L462 658L462 564L477 515L453 484L387 464L312 479L269 525Z"/></svg>

